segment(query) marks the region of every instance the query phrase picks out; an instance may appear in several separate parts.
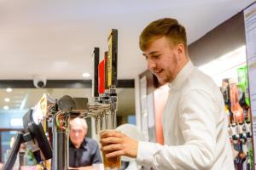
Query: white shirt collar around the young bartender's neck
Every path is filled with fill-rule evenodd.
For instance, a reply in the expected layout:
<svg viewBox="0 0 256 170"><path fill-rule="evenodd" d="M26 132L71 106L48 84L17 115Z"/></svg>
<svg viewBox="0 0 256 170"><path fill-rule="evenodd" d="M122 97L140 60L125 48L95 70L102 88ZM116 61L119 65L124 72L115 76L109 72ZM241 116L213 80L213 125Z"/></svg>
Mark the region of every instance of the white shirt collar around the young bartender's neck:
<svg viewBox="0 0 256 170"><path fill-rule="evenodd" d="M169 82L169 88L179 88L183 82L189 77L191 71L193 71L195 66L192 61L189 59L189 62L183 67L181 71L177 73L177 76L172 82Z"/></svg>

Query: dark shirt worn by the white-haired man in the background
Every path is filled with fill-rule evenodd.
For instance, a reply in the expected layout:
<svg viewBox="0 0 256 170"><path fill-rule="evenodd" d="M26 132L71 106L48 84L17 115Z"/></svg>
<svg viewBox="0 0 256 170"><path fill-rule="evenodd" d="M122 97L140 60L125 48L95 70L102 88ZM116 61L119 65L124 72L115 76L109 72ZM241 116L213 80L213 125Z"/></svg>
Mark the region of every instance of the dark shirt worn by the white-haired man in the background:
<svg viewBox="0 0 256 170"><path fill-rule="evenodd" d="M102 156L96 140L85 138L79 149L69 140L69 167L86 167L102 163Z"/></svg>

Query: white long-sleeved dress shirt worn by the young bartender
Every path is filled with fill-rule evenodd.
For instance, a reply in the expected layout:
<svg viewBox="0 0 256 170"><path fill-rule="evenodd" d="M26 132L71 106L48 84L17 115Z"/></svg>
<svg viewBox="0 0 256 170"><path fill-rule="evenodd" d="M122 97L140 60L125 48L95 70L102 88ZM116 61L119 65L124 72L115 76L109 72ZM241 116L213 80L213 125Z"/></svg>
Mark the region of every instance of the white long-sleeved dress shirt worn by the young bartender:
<svg viewBox="0 0 256 170"><path fill-rule="evenodd" d="M137 163L163 170L233 170L217 85L189 61L169 87L162 116L165 144L139 142Z"/></svg>

